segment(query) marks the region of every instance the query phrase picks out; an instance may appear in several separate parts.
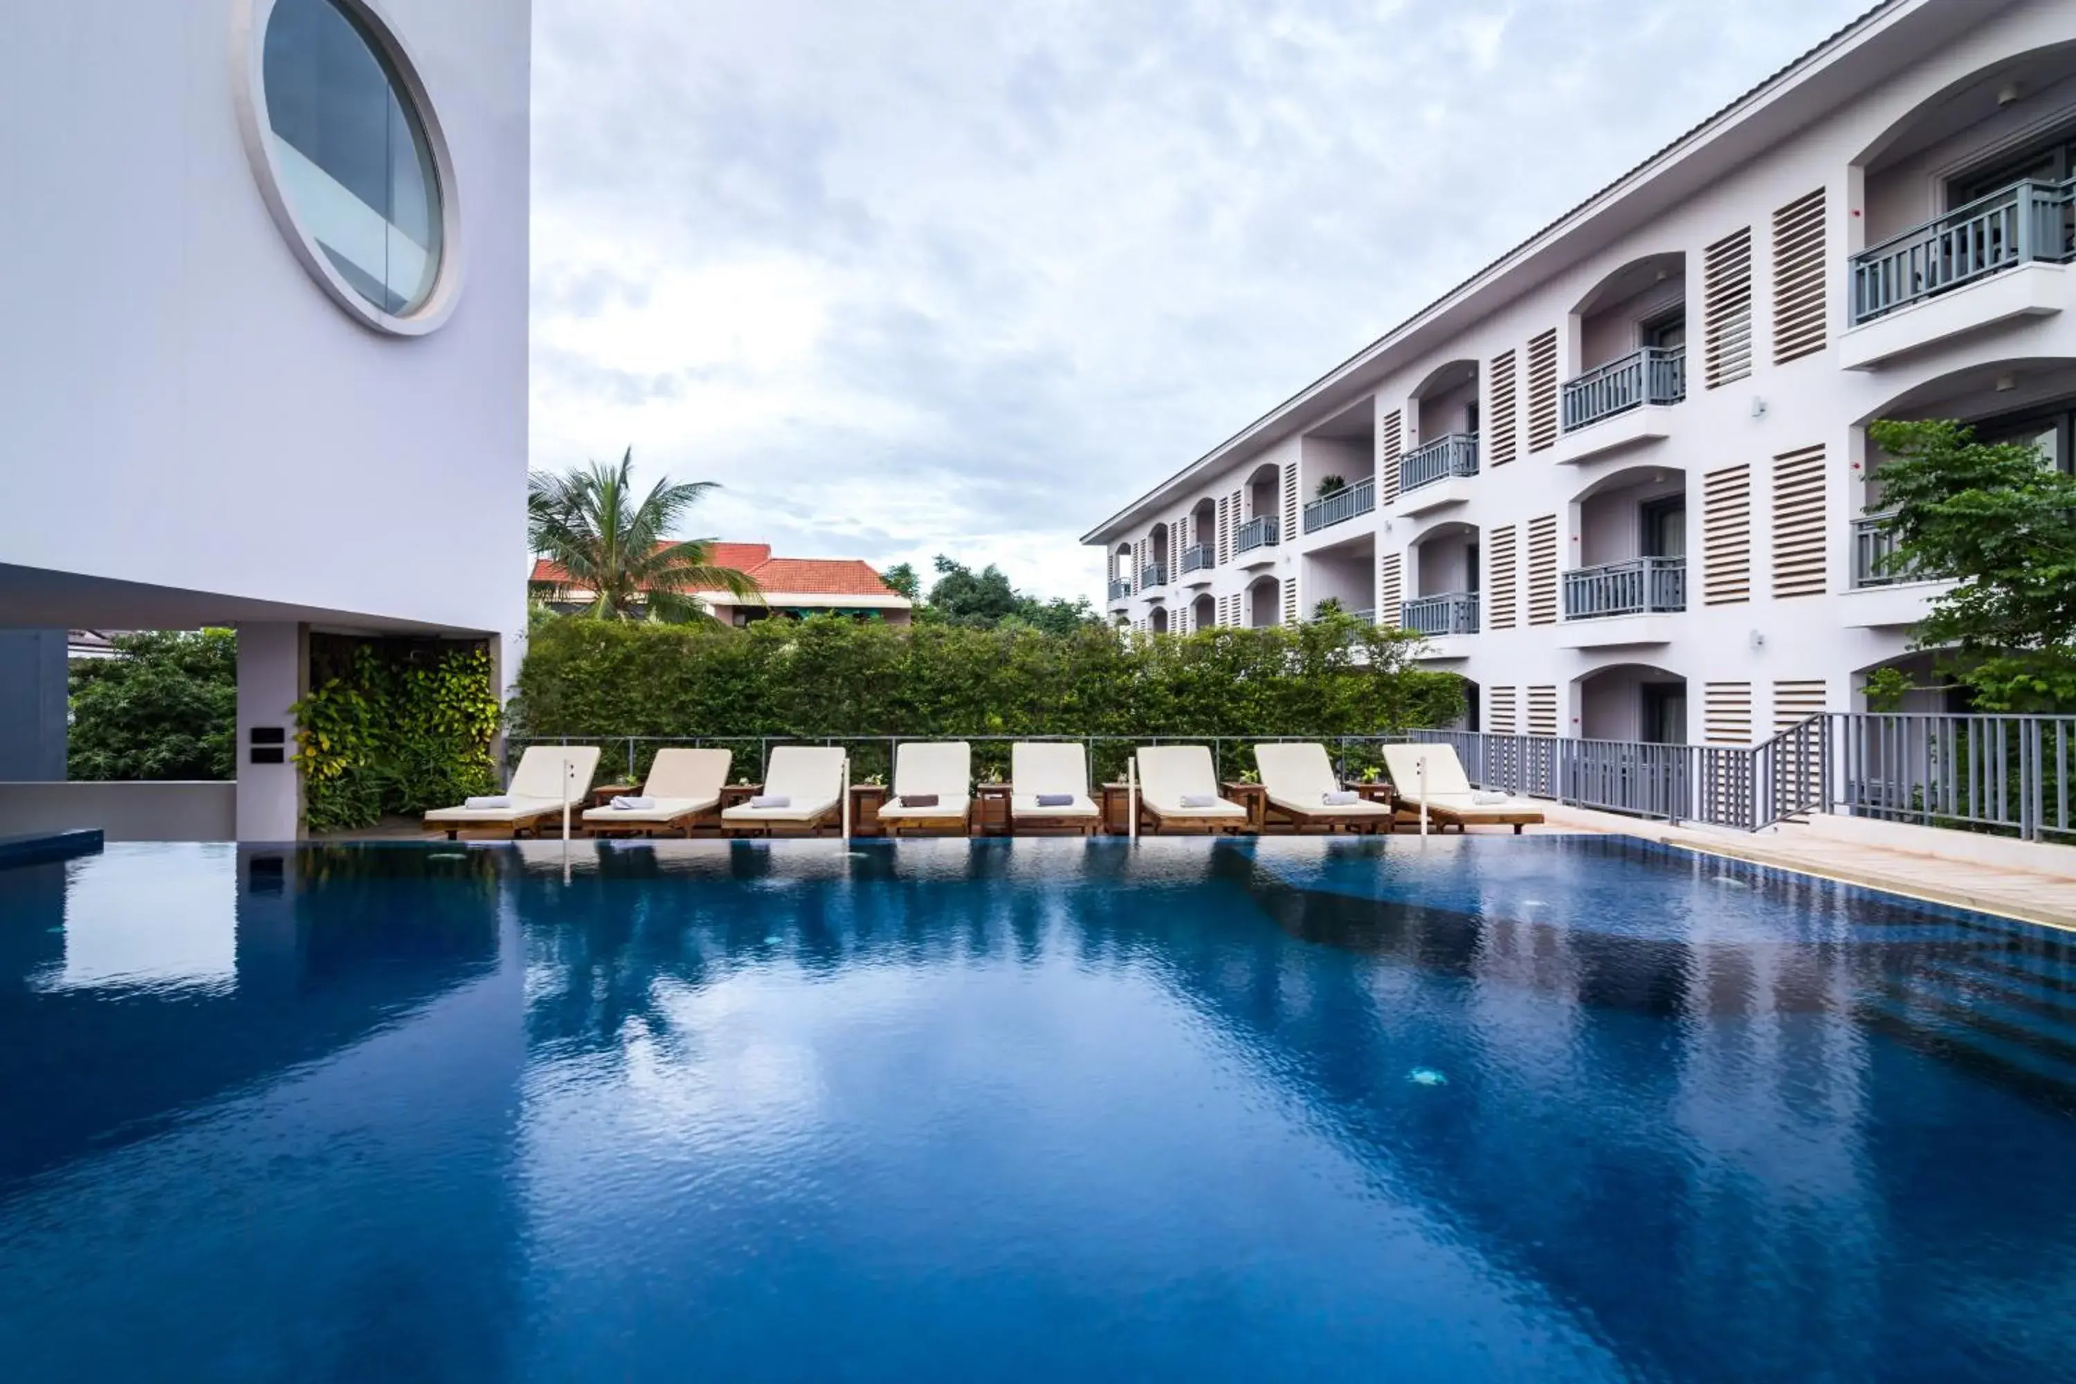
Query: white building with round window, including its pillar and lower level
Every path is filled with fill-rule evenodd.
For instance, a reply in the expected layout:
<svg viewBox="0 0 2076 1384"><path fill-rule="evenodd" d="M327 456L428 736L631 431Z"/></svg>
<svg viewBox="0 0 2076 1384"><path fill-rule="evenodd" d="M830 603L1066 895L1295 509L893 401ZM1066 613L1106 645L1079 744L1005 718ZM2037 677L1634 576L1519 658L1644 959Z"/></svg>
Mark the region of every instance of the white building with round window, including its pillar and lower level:
<svg viewBox="0 0 2076 1384"><path fill-rule="evenodd" d="M0 836L293 840L313 633L525 631L529 0L0 41ZM239 631L237 784L69 784L64 631Z"/></svg>

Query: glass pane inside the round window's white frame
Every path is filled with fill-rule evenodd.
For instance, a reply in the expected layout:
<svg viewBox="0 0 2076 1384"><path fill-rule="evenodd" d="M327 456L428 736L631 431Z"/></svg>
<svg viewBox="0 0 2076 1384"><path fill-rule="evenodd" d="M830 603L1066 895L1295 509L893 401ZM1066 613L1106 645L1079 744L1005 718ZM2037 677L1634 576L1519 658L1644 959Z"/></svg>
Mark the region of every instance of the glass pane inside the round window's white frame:
<svg viewBox="0 0 2076 1384"><path fill-rule="evenodd" d="M409 313L440 270L440 183L382 48L338 0L278 0L264 81L295 218L355 293Z"/></svg>

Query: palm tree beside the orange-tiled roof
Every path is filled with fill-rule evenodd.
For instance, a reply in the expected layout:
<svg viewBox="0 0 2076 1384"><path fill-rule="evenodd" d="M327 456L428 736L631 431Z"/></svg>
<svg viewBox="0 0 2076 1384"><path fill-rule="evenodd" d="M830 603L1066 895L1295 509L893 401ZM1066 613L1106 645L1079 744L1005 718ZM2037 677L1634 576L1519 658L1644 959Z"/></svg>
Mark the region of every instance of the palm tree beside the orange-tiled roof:
<svg viewBox="0 0 2076 1384"><path fill-rule="evenodd" d="M714 564L714 539L664 537L714 490L714 481L673 486L664 477L644 496L633 483L635 450L621 465L590 461L569 475L527 475L527 542L563 569L569 585L596 593L600 620L710 620L693 591L756 598L758 583L733 566ZM536 581L536 589L558 583Z"/></svg>

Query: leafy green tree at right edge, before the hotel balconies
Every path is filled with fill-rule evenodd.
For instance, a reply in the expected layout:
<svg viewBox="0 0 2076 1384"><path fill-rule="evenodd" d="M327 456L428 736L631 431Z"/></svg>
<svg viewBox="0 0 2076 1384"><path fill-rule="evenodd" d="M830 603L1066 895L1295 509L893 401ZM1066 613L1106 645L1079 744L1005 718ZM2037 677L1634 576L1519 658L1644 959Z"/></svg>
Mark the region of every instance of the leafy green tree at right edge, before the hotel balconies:
<svg viewBox="0 0 2076 1384"><path fill-rule="evenodd" d="M1912 631L1985 712L2076 705L2076 479L2037 448L1978 442L1954 421L1875 423L1893 506L1891 571L1954 587Z"/></svg>

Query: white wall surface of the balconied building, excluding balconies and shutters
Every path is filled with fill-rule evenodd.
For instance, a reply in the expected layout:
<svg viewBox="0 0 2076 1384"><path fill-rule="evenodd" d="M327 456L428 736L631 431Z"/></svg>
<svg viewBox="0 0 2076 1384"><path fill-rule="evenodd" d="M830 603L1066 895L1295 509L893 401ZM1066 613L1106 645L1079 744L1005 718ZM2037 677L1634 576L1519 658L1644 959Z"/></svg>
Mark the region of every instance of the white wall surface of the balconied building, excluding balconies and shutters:
<svg viewBox="0 0 2076 1384"><path fill-rule="evenodd" d="M1993 396L1999 411L2026 403L2028 394L2059 396L2072 392L2070 382L2049 384L2051 369L2076 369L2076 311L2064 311L2064 307L2076 309L2076 268L2041 266L1997 276L1997 280L2018 276L2039 280L2028 288L2034 315L2010 317L1974 332L1941 334L1935 313L1993 315L1981 305L2010 288L1989 280L1848 332L1848 257L1866 243L1862 168L1879 160L1885 139L1897 124L1939 106L1956 83L2020 54L2072 39L2076 39L2076 0L2028 0L2010 6L1918 0L1895 6L1850 39L1843 52L1773 91L1771 110L1725 120L1723 129L1686 147L1667 164L1646 170L1634 185L1623 185L1586 214L1561 222L1522 255L1349 361L1312 394L1285 405L1233 444L1121 510L1092 531L1088 542L1115 548L1119 539L1129 542L1165 513L1181 513L1202 496L1241 488L1262 461L1287 465L1304 432L1339 417L1351 398L1364 394L1374 398L1378 417L1401 411L1408 423L1405 450L1412 450L1412 421L1422 415L1412 394L1422 382L1449 361L1476 359L1480 403L1488 405L1491 361L1513 351L1518 357L1513 463L1495 467L1486 456L1480 475L1459 483L1459 502L1420 515L1405 513L1403 500L1397 506L1387 504L1381 494L1374 515L1310 535L1285 533L1283 544L1271 550L1273 556L1248 554L1266 566L1250 571L1241 562L1227 562L1214 573L1198 573L1196 577L1206 579L1202 589L1214 596L1241 591L1256 571L1273 571L1283 579L1302 577L1302 556L1372 539L1381 560L1399 556L1403 596L1412 598L1420 573L1414 546L1424 533L1449 525L1476 525L1486 537L1482 560L1491 564L1491 529L1515 525L1515 629L1491 629L1493 583L1486 573L1480 583L1486 598L1482 633L1435 639L1428 643L1428 656L1432 666L1457 670L1482 689L1520 689L1524 708L1520 720L1526 720L1526 689L1555 687L1557 730L1580 735L1586 730L1580 679L1630 666L1686 679L1690 741L1709 739L1704 689L1711 683L1750 683L1750 732L1756 739L1771 732L1773 687L1779 681L1821 681L1829 708L1854 705L1856 674L1906 652L1906 627L1922 614L1929 591L1937 589L1924 583L1862 591L1852 587L1852 521L1862 513L1858 463L1864 452L1864 423L1891 411L1958 413L1981 405L1991 398L1987 378L2005 365L2020 371L2020 380L2014 392ZM2047 62L2076 77L2076 54ZM1875 178L1877 185L1910 183L1918 199L1908 212L1883 210L1883 220L1893 222L1885 230L1906 230L1916 220L1937 214L1935 197L1943 178L1960 172L1964 164L1978 162L1987 147L2022 131L2041 131L2057 120L2076 118L2076 83L2068 87L2039 83L2020 108L1974 124L1895 168L1883 168ZM1758 135L1752 131L1765 129L1767 122L1779 133L1754 145ZM1740 141L1754 145L1748 156L1733 158L1725 151ZM1682 195L1677 193L1682 187L1694 191ZM1816 189L1827 193L1829 344L1823 353L1775 365L1773 214ZM1665 205L1655 207L1652 201ZM1706 388L1704 249L1746 226L1752 230L1752 369L1748 378L1723 388ZM1623 419L1611 419L1578 434L1559 434L1555 448L1532 452L1526 361L1530 338L1555 330L1559 384L1580 376L1586 351L1576 315L1580 303L1623 266L1665 253L1686 257L1688 394L1684 403L1657 411L1663 415L1659 419L1663 440L1582 454L1601 438L1630 427ZM1976 295L1974 305L1964 303L1970 295ZM1644 293L1638 301L1655 297ZM1877 340L1875 328L1891 336L1897 330L1916 332L1922 340L1908 355L1891 355L1873 367L1848 367L1862 363L1860 357L1870 349L1866 342ZM1424 432L1435 438L1443 430ZM1491 413L1482 421L1482 434L1486 442L1493 436ZM1771 467L1775 456L1808 446L1825 448L1827 589L1821 596L1783 600L1773 593L1771 581L1775 556ZM1310 452L1306 456L1310 477ZM1702 600L1704 477L1736 465L1750 467L1750 600L1709 606ZM1376 469L1383 473L1383 459ZM1628 647L1569 647L1588 625L1611 622L1559 618L1555 625L1528 625L1528 523L1542 515L1557 517L1559 573L1586 560L1605 560L1601 554L1609 548L1619 548L1619 556L1636 554L1632 531L1609 531L1609 525L1630 525L1626 517L1605 517L1594 521L1592 531L1582 531L1582 513L1594 517L1592 506L1582 510L1582 498L1617 477L1619 483L1650 483L1652 477L1663 477L1650 486L1650 494L1677 492L1684 481L1688 610L1630 622L1638 643ZM1416 492L1416 500L1424 498ZM1160 513L1154 513L1154 506ZM1150 602L1187 604L1196 589L1171 583L1167 591L1136 591L1113 600L1109 610L1136 620ZM1437 589L1432 581L1428 589ZM1308 612L1314 600L1302 585L1300 610ZM1586 633L1596 639L1607 635L1605 629ZM1628 674L1615 681L1634 683ZM1613 726L1609 714L1596 714L1596 720Z"/></svg>

